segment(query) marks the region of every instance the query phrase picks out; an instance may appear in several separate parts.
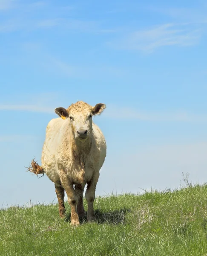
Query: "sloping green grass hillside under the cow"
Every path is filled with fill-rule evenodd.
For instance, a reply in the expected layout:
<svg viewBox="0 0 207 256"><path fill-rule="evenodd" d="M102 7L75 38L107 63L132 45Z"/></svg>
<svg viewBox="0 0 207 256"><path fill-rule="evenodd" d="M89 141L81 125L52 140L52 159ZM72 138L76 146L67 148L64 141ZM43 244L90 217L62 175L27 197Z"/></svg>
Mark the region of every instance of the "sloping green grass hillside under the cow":
<svg viewBox="0 0 207 256"><path fill-rule="evenodd" d="M95 210L98 221L77 228L57 205L0 210L0 256L207 255L206 184L98 197Z"/></svg>

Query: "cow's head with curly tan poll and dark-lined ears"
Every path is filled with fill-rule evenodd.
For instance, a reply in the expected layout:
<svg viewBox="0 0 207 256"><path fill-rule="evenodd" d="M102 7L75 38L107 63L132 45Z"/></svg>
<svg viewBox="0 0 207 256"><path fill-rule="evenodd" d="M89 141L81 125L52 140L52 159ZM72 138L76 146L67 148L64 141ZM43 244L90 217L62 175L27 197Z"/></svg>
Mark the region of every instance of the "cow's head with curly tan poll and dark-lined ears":
<svg viewBox="0 0 207 256"><path fill-rule="evenodd" d="M62 119L69 121L75 140L84 142L92 133L92 116L99 115L106 108L106 105L98 103L95 107L79 101L69 108L56 108L55 113Z"/></svg>

